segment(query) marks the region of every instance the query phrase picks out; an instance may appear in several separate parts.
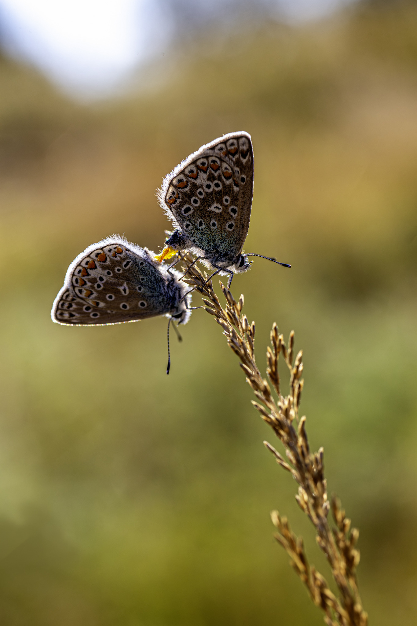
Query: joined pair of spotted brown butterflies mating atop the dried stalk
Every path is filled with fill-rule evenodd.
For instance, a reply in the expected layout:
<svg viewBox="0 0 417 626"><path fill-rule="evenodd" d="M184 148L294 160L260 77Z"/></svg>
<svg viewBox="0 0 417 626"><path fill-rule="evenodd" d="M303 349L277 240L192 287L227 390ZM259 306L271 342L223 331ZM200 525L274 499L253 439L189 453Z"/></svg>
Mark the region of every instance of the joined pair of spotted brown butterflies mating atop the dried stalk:
<svg viewBox="0 0 417 626"><path fill-rule="evenodd" d="M253 174L248 133L229 133L201 146L164 178L158 190L159 202L175 227L163 252L155 257L151 250L116 235L90 245L68 268L54 300L53 321L97 326L165 315L168 332L171 320L186 324L191 315L188 285L180 281L173 265L167 268L162 261L188 250L214 270L213 275L229 275L229 287L234 273L246 272L248 256L261 256L242 254Z"/></svg>

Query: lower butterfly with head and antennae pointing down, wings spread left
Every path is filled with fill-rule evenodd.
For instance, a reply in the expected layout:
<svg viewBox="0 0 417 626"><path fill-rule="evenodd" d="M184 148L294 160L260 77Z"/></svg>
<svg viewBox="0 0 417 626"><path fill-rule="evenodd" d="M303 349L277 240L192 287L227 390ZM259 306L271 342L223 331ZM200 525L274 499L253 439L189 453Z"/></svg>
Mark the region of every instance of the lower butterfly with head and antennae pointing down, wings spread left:
<svg viewBox="0 0 417 626"><path fill-rule="evenodd" d="M89 245L74 259L54 300L53 322L106 326L165 315L186 324L191 315L187 285L147 248L113 235Z"/></svg>

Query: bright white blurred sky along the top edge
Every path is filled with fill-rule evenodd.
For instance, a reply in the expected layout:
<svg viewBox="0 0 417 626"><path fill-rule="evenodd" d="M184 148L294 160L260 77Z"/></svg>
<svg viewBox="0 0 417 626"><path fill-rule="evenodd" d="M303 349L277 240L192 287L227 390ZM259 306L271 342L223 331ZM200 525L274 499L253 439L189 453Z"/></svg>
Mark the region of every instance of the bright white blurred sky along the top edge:
<svg viewBox="0 0 417 626"><path fill-rule="evenodd" d="M278 17L299 20L317 18L348 1L276 0L263 6L275 9ZM196 13L199 2L193 3ZM213 21L224 1L210 4ZM241 4L242 12L248 4ZM239 3L233 6L236 13ZM69 93L106 96L171 43L175 3L166 3L166 9L156 0L0 0L1 43Z"/></svg>

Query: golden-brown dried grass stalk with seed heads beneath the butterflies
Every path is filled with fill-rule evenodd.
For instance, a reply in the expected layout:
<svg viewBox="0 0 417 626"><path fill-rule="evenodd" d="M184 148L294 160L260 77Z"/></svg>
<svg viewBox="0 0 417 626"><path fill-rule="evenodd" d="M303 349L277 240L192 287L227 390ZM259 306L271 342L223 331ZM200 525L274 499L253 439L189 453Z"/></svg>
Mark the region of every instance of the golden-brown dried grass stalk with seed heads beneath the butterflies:
<svg viewBox="0 0 417 626"><path fill-rule="evenodd" d="M214 293L211 280L203 276L196 265L190 267L193 259L184 256L186 275L184 282L192 285L203 297L204 309L214 317L222 327L224 336L233 352L240 359L240 366L246 374L246 381L252 387L259 402L252 401L261 414L261 418L273 429L285 448L286 459L264 441L266 448L274 455L277 463L289 471L298 483L295 496L301 510L308 516L316 530L316 541L324 552L331 567L334 581L339 590L336 597L328 583L317 570L310 566L304 551L301 537L294 535L286 517L278 511L271 513L276 526L274 535L290 557L290 563L301 581L308 588L314 604L324 611L324 622L328 626L366 626L368 614L363 610L356 579L356 567L359 563L359 551L355 548L359 531L350 530L350 520L346 518L338 498L328 501L326 479L324 478L323 448L312 453L309 449L306 433L306 417L299 417L299 404L303 391L303 352L300 350L294 359L294 331L291 331L288 346L274 323L271 331L271 347L266 352L267 374L278 396L274 398L271 387L261 376L254 355L255 322L249 324L242 314L243 295L238 302L231 292L220 282L226 299L226 307L221 307ZM207 281L207 282L206 282ZM278 362L282 355L284 364L290 372L289 394L281 393ZM331 508L336 528L331 528L328 513Z"/></svg>

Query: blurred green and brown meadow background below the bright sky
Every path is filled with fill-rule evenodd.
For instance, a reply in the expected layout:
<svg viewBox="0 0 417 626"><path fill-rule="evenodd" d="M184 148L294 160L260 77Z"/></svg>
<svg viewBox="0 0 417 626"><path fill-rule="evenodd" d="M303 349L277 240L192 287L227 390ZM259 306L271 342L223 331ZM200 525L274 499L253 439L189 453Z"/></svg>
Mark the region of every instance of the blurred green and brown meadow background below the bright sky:
<svg viewBox="0 0 417 626"><path fill-rule="evenodd" d="M370 623L411 626L417 6L359 2L312 19L308 3L296 16L159 4L166 46L123 88L112 78L88 97L84 78L53 83L16 53L0 11L1 622L323 623L270 510L329 571L211 316L195 311L182 344L173 334L168 377L164 319L83 329L49 317L87 245L117 232L160 250L163 176L243 129L255 155L245 249L293 267L254 259L234 295L256 320L259 364L274 321L296 331L309 438L361 532Z"/></svg>

